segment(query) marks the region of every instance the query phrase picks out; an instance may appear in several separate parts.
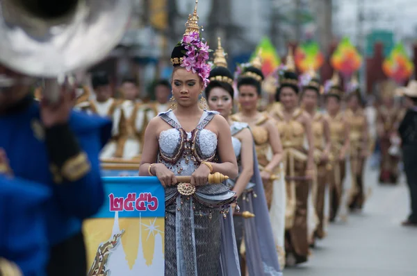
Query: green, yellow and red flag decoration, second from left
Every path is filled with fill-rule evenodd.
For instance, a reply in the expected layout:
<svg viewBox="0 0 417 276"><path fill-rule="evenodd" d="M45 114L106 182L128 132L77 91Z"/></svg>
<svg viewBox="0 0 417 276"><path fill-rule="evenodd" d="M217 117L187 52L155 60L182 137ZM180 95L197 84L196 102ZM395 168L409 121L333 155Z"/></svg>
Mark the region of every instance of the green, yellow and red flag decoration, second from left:
<svg viewBox="0 0 417 276"><path fill-rule="evenodd" d="M295 64L302 73L311 69L318 71L324 60L317 42L306 42L295 49Z"/></svg>

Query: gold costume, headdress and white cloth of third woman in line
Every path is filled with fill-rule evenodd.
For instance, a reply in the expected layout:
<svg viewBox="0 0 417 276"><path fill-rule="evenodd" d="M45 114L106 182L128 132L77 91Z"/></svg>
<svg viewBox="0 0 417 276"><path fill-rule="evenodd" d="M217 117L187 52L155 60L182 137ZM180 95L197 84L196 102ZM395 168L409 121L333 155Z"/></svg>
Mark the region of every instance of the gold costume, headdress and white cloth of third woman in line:
<svg viewBox="0 0 417 276"><path fill-rule="evenodd" d="M238 83L260 85L263 80L262 71L259 69L260 67L260 58L257 57L254 62L252 62L252 66L244 69L239 77ZM232 115L231 119L243 122L238 114ZM268 128L265 126L265 123L268 120L272 120L272 118L270 118L266 112L262 112L257 121L250 123L250 130L254 137L256 157L260 171L268 166L273 155L269 141ZM270 212L272 234L275 239L279 265L283 268L285 266L284 223L286 212L286 188L282 167L277 167L272 171L271 179L263 182L263 189L265 191L265 199Z"/></svg>

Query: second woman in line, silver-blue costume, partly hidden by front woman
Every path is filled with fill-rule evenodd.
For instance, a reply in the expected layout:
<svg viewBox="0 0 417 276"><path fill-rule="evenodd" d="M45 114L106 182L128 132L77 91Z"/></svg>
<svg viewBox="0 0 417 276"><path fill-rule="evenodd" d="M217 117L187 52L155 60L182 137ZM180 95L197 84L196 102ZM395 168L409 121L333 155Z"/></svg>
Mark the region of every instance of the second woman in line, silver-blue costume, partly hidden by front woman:
<svg viewBox="0 0 417 276"><path fill-rule="evenodd" d="M230 118L233 108L234 89L232 87L234 77L227 69L227 61L224 58L224 50L218 41L218 49L215 51L214 64L210 72L210 83L206 87L208 107L216 110L229 122L231 140L234 153L238 159L239 176L231 180L229 184L232 191L238 196L238 206L234 215L236 243L238 249L245 239L245 253L240 262L242 275L281 275L278 255L272 228L268 214L268 207L263 191L262 179L259 173L254 139L247 123L232 121ZM248 213L249 212L249 213ZM246 214L254 214L254 217L243 218ZM245 271L247 270L247 271Z"/></svg>

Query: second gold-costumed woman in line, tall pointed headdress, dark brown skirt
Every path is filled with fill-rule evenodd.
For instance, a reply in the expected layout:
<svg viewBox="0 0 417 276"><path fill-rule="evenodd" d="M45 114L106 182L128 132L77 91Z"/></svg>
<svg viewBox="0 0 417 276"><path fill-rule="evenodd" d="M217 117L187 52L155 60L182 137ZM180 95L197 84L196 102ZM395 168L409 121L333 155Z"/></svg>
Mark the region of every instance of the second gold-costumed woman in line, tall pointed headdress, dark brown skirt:
<svg viewBox="0 0 417 276"><path fill-rule="evenodd" d="M298 107L298 76L295 73L293 53L290 49L286 66L279 71L277 98L280 107L271 110L284 148L286 170L286 260L288 265L307 261L307 202L309 186L314 175L313 135L311 118ZM308 149L304 146L308 142Z"/></svg>

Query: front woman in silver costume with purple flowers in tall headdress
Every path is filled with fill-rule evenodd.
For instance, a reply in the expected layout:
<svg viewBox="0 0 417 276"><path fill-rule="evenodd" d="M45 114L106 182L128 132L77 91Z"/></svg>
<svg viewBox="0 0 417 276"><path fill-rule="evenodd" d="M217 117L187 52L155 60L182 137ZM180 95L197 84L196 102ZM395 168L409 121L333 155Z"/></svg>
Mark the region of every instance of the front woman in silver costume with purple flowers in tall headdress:
<svg viewBox="0 0 417 276"><path fill-rule="evenodd" d="M236 178L238 166L229 124L199 107L210 67L197 18L196 3L171 55L172 110L149 122L139 174L156 175L165 187L165 275L238 276L229 212L236 193L225 183L208 184L209 173ZM191 175L189 184L177 184L183 175Z"/></svg>

